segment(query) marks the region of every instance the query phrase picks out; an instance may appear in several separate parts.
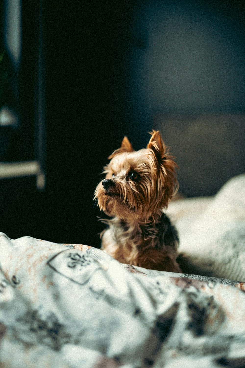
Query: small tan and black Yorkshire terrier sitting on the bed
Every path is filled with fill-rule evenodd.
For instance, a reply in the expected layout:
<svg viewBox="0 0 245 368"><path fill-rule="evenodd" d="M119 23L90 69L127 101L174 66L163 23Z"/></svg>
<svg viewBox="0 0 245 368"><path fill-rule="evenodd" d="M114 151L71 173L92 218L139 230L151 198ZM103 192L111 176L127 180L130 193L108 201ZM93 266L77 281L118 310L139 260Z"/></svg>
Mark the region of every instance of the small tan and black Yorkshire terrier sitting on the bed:
<svg viewBox="0 0 245 368"><path fill-rule="evenodd" d="M100 210L112 218L101 233L102 250L121 263L181 272L176 262L179 239L163 209L177 191L177 164L159 131L147 148L134 151L127 137L104 167L95 191Z"/></svg>

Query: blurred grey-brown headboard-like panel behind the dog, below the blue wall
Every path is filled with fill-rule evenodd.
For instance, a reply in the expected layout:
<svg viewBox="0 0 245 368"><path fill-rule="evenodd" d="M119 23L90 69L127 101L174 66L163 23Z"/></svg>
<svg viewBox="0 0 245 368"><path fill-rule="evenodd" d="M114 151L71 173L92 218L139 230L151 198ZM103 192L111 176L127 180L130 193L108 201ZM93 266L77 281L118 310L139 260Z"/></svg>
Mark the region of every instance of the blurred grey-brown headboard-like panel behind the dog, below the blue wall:
<svg viewBox="0 0 245 368"><path fill-rule="evenodd" d="M245 114L159 114L155 127L176 157L185 196L214 195L245 172Z"/></svg>

